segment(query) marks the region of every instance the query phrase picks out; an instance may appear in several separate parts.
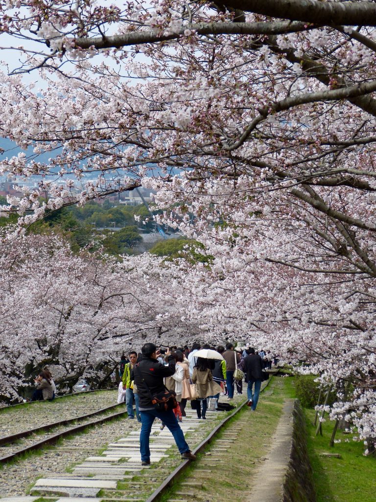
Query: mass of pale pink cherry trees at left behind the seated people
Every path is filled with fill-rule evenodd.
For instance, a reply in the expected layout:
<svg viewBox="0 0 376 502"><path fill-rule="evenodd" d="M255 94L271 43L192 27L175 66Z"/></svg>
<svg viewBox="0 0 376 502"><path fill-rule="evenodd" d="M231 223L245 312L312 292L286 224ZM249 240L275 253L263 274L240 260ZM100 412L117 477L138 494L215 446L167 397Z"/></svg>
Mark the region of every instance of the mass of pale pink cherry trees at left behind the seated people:
<svg viewBox="0 0 376 502"><path fill-rule="evenodd" d="M3 400L23 395L45 365L61 386L80 376L99 385L123 351L195 329L181 321L167 293L172 278L151 255L116 263L74 255L56 235L29 235L3 243L0 256Z"/></svg>

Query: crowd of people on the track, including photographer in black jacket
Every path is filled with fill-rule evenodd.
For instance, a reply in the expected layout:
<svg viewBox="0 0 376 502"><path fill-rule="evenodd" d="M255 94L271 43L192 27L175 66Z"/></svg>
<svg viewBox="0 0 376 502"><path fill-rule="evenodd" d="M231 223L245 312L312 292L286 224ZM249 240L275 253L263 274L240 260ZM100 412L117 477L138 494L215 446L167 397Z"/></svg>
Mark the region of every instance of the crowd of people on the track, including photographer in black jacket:
<svg viewBox="0 0 376 502"><path fill-rule="evenodd" d="M206 352L199 352L207 349ZM197 355L198 354L198 355ZM204 356L205 354L205 356ZM222 356L222 357L221 357ZM199 420L206 420L207 410L220 409L221 396L231 401L235 389L243 394L243 379L247 384L247 405L255 411L265 369L278 364L278 356L270 351L256 352L253 347L238 348L228 342L226 347L201 346L157 348L145 343L141 352L123 354L120 361L118 403L125 401L128 419L141 423L140 452L142 465L150 464L149 437L155 418L160 428L172 433L181 457L195 460L179 426L190 401ZM227 405L228 406L228 405Z"/></svg>

